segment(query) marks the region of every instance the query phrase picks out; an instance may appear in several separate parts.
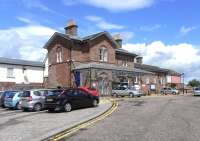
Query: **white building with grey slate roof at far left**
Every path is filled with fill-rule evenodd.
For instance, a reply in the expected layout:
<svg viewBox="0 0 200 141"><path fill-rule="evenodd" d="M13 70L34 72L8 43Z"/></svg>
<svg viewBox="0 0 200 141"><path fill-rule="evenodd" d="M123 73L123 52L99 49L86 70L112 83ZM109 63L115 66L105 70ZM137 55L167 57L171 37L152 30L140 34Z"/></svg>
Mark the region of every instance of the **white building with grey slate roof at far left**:
<svg viewBox="0 0 200 141"><path fill-rule="evenodd" d="M0 90L42 87L43 62L0 57Z"/></svg>

